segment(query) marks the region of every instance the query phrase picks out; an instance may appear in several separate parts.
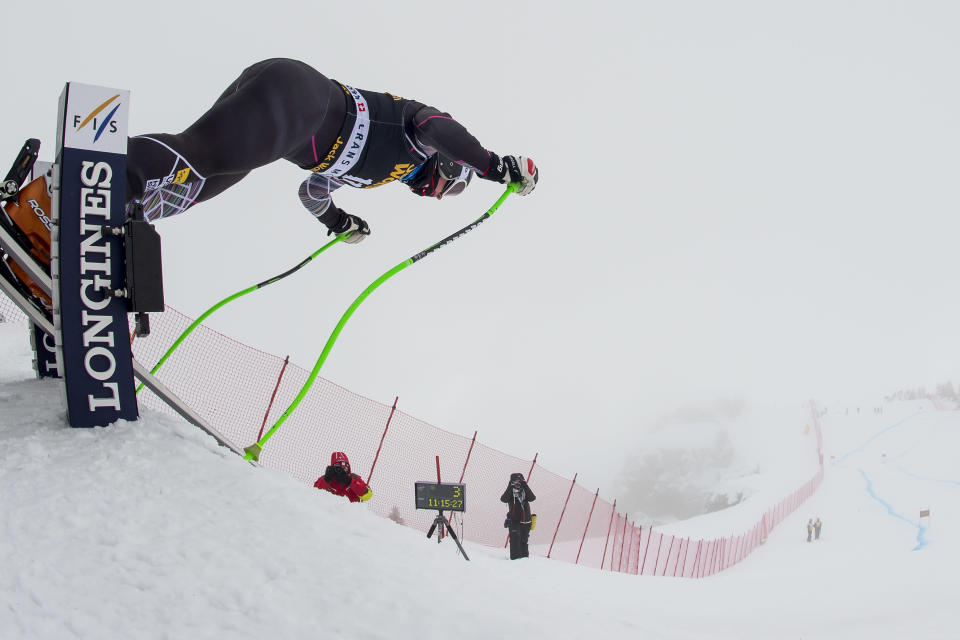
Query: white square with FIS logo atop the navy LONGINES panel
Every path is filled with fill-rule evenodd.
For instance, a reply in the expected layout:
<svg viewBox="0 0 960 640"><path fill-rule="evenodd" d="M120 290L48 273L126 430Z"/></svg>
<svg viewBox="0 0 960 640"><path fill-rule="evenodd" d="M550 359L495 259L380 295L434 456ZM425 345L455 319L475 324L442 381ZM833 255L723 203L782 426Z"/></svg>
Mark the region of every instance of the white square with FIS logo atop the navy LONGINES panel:
<svg viewBox="0 0 960 640"><path fill-rule="evenodd" d="M129 96L128 91L70 83L62 119L64 146L125 154L127 137L121 132L127 130Z"/></svg>

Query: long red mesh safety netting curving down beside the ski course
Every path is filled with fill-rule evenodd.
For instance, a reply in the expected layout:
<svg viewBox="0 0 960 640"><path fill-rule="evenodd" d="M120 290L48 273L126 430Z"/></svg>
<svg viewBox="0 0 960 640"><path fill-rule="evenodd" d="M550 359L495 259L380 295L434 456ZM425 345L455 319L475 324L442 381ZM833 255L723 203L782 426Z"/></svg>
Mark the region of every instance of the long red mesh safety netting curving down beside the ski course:
<svg viewBox="0 0 960 640"><path fill-rule="evenodd" d="M0 295L0 319L26 317ZM152 367L192 322L167 308L151 316L152 332L132 343L134 357ZM26 332L25 332L26 335ZM232 443L256 442L283 414L309 372L204 326L198 327L159 370L157 377ZM273 402L271 403L271 399ZM142 407L174 413L149 390L138 395ZM809 498L823 479L822 435L811 404L817 436L819 471L767 510L749 530L713 540L678 538L637 525L613 504L536 464L444 431L396 408L317 377L297 410L260 456L266 467L313 484L329 464L332 451L350 457L353 471L367 478L373 512L427 531L436 513L414 507L414 482L435 481L439 458L444 482L467 485L467 512L456 514L462 539L505 547L505 507L500 495L511 473L528 477L537 499L537 525L530 552L604 571L645 576L705 577L740 562L773 527ZM374 464L375 463L375 464ZM448 514L449 515L449 514Z"/></svg>

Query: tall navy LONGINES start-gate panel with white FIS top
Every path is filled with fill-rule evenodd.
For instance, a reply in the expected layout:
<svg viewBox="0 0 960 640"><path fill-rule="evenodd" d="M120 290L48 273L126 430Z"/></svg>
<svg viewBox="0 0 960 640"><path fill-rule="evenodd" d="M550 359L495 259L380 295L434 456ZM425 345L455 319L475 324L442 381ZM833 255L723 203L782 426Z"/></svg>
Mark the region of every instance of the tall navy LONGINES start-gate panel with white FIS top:
<svg viewBox="0 0 960 640"><path fill-rule="evenodd" d="M138 416L126 300L107 293L124 288L123 237L103 228L124 222L129 102L76 82L60 96L54 328L74 427Z"/></svg>

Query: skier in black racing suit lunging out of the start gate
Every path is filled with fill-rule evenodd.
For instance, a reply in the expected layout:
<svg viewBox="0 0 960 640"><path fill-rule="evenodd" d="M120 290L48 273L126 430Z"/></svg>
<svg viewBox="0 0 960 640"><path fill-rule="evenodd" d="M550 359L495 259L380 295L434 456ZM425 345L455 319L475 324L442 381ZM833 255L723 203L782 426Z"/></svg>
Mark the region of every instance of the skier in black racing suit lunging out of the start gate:
<svg viewBox="0 0 960 640"><path fill-rule="evenodd" d="M421 196L455 195L473 173L527 195L538 180L524 156L485 149L450 114L389 93L357 90L286 58L243 71L199 120L179 134L132 137L127 201L147 220L176 215L283 158L311 171L304 206L331 233L360 242L370 227L337 207L343 185L361 189L401 181Z"/></svg>

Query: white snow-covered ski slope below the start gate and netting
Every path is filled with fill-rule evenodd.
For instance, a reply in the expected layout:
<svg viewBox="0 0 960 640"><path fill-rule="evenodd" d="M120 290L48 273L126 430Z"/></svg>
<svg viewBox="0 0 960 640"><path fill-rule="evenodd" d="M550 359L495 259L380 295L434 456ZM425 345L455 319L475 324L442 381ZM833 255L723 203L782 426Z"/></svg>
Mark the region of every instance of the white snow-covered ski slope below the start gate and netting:
<svg viewBox="0 0 960 640"><path fill-rule="evenodd" d="M640 578L465 562L161 414L67 428L25 333L0 323L5 639L957 637L960 412L828 408L824 483L765 545L712 578ZM670 531L735 533L745 507Z"/></svg>

